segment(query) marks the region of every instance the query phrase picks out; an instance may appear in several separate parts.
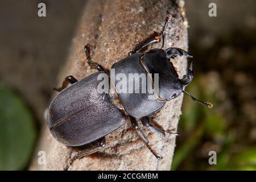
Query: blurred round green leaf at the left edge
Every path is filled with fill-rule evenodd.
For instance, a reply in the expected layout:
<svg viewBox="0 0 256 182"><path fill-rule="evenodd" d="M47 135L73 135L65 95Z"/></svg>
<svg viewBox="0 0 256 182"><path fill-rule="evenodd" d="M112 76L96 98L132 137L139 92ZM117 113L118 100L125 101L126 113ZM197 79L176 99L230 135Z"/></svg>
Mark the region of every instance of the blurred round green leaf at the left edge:
<svg viewBox="0 0 256 182"><path fill-rule="evenodd" d="M20 97L0 82L0 170L27 166L36 139L34 122Z"/></svg>

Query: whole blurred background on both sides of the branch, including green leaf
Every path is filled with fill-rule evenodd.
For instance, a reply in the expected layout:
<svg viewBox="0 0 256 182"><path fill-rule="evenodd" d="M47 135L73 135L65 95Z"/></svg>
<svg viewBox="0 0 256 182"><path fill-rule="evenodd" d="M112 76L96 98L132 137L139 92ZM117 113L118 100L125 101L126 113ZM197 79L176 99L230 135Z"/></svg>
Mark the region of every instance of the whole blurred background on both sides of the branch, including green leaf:
<svg viewBox="0 0 256 182"><path fill-rule="evenodd" d="M37 5L47 4L39 18ZM210 2L217 17L208 16ZM0 169L27 169L84 1L0 1ZM172 170L256 169L256 2L185 1L193 96L184 97ZM209 151L217 165L209 165Z"/></svg>

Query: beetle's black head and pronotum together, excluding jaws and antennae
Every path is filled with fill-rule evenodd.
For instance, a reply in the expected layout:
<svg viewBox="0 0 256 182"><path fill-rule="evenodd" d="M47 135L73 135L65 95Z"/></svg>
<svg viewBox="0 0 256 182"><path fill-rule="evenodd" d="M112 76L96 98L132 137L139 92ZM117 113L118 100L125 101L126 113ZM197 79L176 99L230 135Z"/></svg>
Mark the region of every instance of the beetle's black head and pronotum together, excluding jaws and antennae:
<svg viewBox="0 0 256 182"><path fill-rule="evenodd" d="M159 89L154 88L153 94L148 92L121 93L117 86L118 81L115 80L115 90L122 101L123 107L129 115L135 118L142 118L155 113L164 106L166 101L179 96L183 90L183 84L181 84L174 66L170 59L166 57L166 52L163 49L151 49L144 54L134 53L113 64L112 68L115 69L115 75L124 73L127 78L129 73L143 73L146 75L151 73L151 81L147 84L153 85L152 88L154 88L154 73L159 75ZM133 88L135 88L134 80L132 81ZM141 82L139 86L141 91ZM127 90L129 90L128 84ZM153 100L152 97L154 97Z"/></svg>

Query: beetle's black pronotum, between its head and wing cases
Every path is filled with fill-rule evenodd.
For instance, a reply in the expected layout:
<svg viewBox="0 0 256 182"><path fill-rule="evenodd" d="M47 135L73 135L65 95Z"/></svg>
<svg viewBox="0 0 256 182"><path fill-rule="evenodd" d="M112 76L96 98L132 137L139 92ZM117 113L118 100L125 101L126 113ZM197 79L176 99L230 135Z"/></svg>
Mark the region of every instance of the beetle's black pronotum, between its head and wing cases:
<svg viewBox="0 0 256 182"><path fill-rule="evenodd" d="M143 53L134 53L131 56L126 57L113 64L112 69L115 70L115 75L123 73L129 78L129 73L147 76L146 70L141 65L141 57ZM138 78L138 77L137 77ZM135 86L135 79L130 79L127 82L127 91L130 89L128 86L133 85L132 93L120 93L117 86L118 82L115 81L115 90L118 93L118 97L122 101L123 107L127 113L135 118L142 118L152 113L155 113L161 109L165 101L158 100L155 97L155 93L148 92L148 85L142 85L141 78L139 80L139 87ZM152 84L152 82L146 82L146 84ZM146 88L146 93L142 93L142 86ZM139 90L137 90L139 89ZM139 92L136 93L135 91ZM152 99L152 97L155 97Z"/></svg>

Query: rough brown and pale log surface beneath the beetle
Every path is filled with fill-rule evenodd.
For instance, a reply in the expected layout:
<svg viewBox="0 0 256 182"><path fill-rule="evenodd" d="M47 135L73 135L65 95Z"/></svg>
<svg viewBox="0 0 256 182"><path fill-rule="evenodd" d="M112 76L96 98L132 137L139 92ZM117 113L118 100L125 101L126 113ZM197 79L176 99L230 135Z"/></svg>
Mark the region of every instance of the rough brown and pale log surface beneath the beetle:
<svg viewBox="0 0 256 182"><path fill-rule="evenodd" d="M82 15L72 47L59 75L59 85L67 75L77 79L96 72L86 64L84 45L90 43L92 59L105 68L122 59L153 31L160 31L166 12L173 15L166 35L165 47L179 47L187 50L187 26L181 17L176 3L167 0L127 0L127 1L89 1ZM160 47L154 44L152 47ZM187 61L177 57L172 60L183 76ZM181 114L183 96L168 102L159 113L155 114L155 124L163 129L176 130ZM162 139L141 126L147 135L151 147L157 154L163 156L157 160L138 137L129 121L114 133L107 135L106 148L96 154L77 159L70 170L168 170L171 166L175 148L175 137L167 136ZM57 142L45 127L38 146L39 150L46 151L47 164L38 165L38 156L35 156L30 169L63 170L70 155L76 151L71 147ZM37 154L37 152L36 152Z"/></svg>

